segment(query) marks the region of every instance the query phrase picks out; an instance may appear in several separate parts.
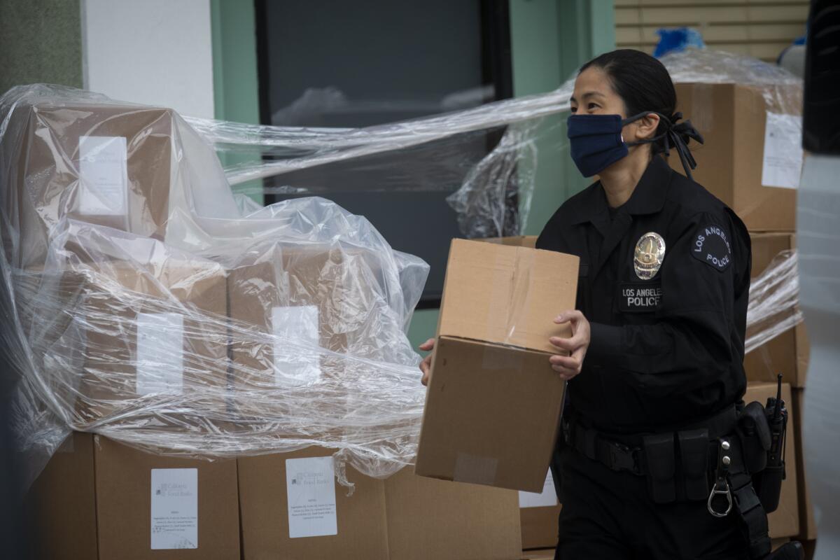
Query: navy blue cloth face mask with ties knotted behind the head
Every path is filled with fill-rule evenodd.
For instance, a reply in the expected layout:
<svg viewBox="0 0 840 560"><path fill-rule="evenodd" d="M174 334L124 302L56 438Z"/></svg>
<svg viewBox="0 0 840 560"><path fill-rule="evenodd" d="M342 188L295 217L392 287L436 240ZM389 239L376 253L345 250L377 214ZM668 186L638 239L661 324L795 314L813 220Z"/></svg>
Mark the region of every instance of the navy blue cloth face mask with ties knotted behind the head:
<svg viewBox="0 0 840 560"><path fill-rule="evenodd" d="M622 128L649 114L659 115L665 125L665 132L652 139L625 142L622 138ZM572 160L575 160L575 165L583 176L591 177L627 156L628 146L651 144L664 139L662 151L668 155L670 148L676 149L685 169L685 175L690 178L691 170L696 167L696 162L686 142L688 139L693 139L702 144L703 137L689 121L675 124L680 118L682 114L676 113L672 122L662 113L655 111L645 111L625 119L622 119L621 115L572 115L568 121Z"/></svg>

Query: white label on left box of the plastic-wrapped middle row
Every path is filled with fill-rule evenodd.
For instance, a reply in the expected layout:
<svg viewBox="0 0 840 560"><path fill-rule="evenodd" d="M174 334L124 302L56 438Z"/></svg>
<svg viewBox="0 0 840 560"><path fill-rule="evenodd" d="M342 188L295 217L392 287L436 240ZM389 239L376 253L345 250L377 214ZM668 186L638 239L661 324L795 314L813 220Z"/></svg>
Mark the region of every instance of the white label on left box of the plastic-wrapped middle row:
<svg viewBox="0 0 840 560"><path fill-rule="evenodd" d="M184 317L137 314L137 394L181 395L184 389Z"/></svg>

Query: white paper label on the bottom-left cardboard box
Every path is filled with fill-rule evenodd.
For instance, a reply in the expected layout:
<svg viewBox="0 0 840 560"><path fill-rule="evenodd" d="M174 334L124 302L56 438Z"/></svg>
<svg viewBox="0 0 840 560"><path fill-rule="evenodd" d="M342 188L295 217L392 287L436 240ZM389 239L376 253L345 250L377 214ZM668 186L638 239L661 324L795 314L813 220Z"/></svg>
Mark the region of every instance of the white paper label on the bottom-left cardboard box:
<svg viewBox="0 0 840 560"><path fill-rule="evenodd" d="M198 469L152 468L152 550L198 548Z"/></svg>

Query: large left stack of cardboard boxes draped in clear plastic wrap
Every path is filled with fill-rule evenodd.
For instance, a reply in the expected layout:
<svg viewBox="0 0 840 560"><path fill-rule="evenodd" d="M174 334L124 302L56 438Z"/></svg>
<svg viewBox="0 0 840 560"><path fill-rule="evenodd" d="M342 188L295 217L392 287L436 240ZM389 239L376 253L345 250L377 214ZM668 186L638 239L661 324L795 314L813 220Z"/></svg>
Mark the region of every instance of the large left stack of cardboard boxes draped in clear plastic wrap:
<svg viewBox="0 0 840 560"><path fill-rule="evenodd" d="M167 109L34 86L0 110L3 259L45 411L22 437L54 452L26 500L33 557L521 557L514 490L407 466L416 299L370 224L325 201L239 217ZM207 210L225 191L229 212ZM552 437L532 442L546 464Z"/></svg>

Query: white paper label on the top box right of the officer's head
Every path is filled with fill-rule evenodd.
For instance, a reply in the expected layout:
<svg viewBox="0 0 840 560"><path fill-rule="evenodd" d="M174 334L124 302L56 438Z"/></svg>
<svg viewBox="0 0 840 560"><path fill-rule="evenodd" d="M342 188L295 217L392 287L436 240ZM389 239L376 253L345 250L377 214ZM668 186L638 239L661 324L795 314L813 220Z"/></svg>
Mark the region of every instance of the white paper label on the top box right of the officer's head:
<svg viewBox="0 0 840 560"><path fill-rule="evenodd" d="M767 113L764 127L763 186L799 188L802 173L802 118L799 115Z"/></svg>

